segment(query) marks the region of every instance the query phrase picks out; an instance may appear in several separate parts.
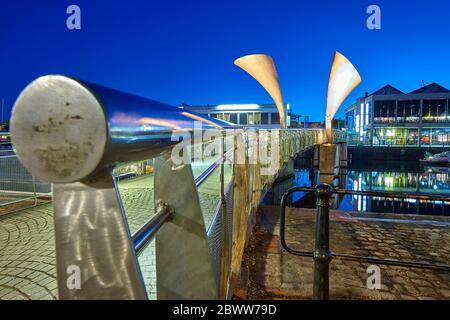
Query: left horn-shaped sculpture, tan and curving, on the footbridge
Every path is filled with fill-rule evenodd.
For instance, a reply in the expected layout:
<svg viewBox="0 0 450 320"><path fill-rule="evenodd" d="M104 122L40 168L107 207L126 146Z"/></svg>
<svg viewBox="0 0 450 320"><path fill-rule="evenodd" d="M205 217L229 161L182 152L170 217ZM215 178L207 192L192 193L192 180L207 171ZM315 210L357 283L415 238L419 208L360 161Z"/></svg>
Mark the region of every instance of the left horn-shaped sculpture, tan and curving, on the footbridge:
<svg viewBox="0 0 450 320"><path fill-rule="evenodd" d="M234 64L255 78L270 94L280 114L280 127L284 128L284 102L272 57L265 54L252 54L236 59Z"/></svg>

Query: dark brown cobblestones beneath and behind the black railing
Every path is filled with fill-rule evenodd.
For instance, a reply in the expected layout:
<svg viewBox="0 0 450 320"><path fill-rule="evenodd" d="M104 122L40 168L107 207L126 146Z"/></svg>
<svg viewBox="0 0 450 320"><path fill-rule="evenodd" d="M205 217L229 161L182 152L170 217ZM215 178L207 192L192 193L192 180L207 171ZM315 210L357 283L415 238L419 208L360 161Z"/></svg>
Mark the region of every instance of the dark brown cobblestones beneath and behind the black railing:
<svg viewBox="0 0 450 320"><path fill-rule="evenodd" d="M314 245L315 210L288 210L291 248ZM279 208L265 206L247 246L236 298L310 299L312 258L293 256L279 241ZM450 264L450 219L392 214L331 213L330 246L336 253ZM370 264L333 260L331 299L450 299L450 273L379 265L381 289L369 290Z"/></svg>

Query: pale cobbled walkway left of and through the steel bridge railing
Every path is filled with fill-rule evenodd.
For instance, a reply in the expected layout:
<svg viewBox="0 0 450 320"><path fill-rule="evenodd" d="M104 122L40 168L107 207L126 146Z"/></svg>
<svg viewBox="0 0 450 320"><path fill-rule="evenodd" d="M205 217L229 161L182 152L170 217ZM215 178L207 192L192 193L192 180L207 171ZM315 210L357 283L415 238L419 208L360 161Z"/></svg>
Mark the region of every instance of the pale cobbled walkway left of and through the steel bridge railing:
<svg viewBox="0 0 450 320"><path fill-rule="evenodd" d="M214 175L214 174L213 174ZM208 178L199 190L207 226L220 199ZM207 181L208 181L207 180ZM119 182L119 190L131 233L154 214L153 177ZM156 298L153 242L138 257L150 299ZM0 300L56 299L56 266L52 204L43 204L0 215Z"/></svg>

